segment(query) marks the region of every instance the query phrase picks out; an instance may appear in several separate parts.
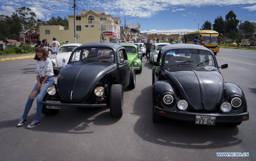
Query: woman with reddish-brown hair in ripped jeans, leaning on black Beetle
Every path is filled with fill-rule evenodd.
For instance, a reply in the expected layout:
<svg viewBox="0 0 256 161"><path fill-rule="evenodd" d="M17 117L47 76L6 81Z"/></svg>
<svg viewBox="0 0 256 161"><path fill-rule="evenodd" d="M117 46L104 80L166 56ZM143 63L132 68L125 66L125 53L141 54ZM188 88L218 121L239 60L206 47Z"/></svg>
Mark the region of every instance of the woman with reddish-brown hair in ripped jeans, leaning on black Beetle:
<svg viewBox="0 0 256 161"><path fill-rule="evenodd" d="M33 128L41 123L40 116L43 105L39 104L39 102L42 101L46 95L47 88L54 85L54 78L52 77L54 76L52 62L48 57L46 49L42 46L38 47L36 49L36 56L34 59L36 60L35 73L37 84L35 85L31 94L28 96L22 119L20 119L19 123L17 124L17 126L22 126L27 121L26 118L28 116L28 112L32 106L33 101L37 97L36 118L31 122L31 124L27 126L27 128Z"/></svg>

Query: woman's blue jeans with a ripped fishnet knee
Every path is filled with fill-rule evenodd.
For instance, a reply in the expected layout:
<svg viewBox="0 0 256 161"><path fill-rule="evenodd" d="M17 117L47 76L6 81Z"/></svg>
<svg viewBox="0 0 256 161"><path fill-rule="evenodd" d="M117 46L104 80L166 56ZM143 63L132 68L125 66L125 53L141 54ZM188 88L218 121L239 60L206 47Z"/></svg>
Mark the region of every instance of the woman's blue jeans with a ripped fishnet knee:
<svg viewBox="0 0 256 161"><path fill-rule="evenodd" d="M40 78L40 83L42 83L44 78L45 77L41 77ZM32 95L32 93L35 93L35 92L36 92L36 95L33 95L34 96L33 98L30 98L30 96L28 96L28 101L27 101L27 104L25 106L25 110L24 110L22 118L24 118L24 119L27 118L28 112L29 112L29 110L30 110L30 108L32 106L32 103L33 103L34 99L37 97L37 100L36 100L36 102L37 102L37 106L36 106L36 119L35 120L37 120L37 121L40 120L40 116L41 116L43 105L39 104L39 102L42 101L44 96L46 95L47 88L49 86L52 86L52 85L54 85L54 78L52 76L48 77L48 79L46 80L44 86L41 88L40 91L37 89L37 84L35 85L34 89L31 92L31 95Z"/></svg>

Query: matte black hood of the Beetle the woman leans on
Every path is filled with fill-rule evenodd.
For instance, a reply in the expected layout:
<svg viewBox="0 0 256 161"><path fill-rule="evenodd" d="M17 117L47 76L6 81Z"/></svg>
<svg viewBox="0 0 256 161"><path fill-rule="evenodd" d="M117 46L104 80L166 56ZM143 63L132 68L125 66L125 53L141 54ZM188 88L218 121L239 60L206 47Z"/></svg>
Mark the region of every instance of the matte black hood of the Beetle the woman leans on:
<svg viewBox="0 0 256 161"><path fill-rule="evenodd" d="M60 98L65 102L83 102L95 84L116 64L98 61L74 62L66 65L58 75L57 87ZM72 92L72 100L71 100Z"/></svg>

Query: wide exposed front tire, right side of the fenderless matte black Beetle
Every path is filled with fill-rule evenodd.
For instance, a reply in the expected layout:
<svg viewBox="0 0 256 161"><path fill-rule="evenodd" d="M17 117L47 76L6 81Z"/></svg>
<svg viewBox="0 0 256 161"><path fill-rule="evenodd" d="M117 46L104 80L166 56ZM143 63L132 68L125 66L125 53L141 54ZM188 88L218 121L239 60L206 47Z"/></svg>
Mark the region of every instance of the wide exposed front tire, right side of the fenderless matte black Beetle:
<svg viewBox="0 0 256 161"><path fill-rule="evenodd" d="M122 117L123 115L123 86L113 84L110 88L110 115L112 117Z"/></svg>

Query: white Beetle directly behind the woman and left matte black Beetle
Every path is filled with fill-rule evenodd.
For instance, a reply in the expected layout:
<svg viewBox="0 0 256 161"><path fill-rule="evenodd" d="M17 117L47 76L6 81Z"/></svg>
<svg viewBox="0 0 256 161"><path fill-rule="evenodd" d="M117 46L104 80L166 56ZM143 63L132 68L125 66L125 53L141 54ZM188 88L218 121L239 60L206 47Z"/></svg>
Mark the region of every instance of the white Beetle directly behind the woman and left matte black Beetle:
<svg viewBox="0 0 256 161"><path fill-rule="evenodd" d="M72 51L80 45L82 44L73 43L60 46L56 57L51 59L54 74L56 74L57 71L60 71L65 65L67 65Z"/></svg>

